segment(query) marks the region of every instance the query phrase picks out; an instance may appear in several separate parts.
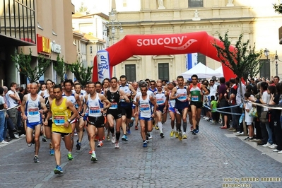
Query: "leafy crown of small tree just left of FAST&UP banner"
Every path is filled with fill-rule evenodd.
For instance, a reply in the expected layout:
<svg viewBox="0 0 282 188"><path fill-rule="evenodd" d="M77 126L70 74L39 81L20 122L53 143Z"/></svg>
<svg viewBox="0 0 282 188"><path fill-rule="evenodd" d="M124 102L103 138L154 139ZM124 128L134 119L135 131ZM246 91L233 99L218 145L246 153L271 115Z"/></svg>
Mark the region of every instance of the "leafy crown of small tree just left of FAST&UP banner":
<svg viewBox="0 0 282 188"><path fill-rule="evenodd" d="M74 74L76 79L83 86L86 85L88 81L91 79L93 66L84 67L82 63L76 63L69 65L69 70Z"/></svg>

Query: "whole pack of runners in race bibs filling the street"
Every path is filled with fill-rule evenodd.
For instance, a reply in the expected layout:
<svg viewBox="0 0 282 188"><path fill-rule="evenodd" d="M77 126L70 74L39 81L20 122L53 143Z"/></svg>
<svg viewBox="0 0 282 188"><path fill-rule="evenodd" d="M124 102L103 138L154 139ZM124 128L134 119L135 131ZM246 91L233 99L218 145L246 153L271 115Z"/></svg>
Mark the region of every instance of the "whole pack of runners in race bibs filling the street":
<svg viewBox="0 0 282 188"><path fill-rule="evenodd" d="M165 83L161 80L140 81L129 84L127 76L105 78L102 83L89 82L84 87L78 81L66 80L60 85L46 82L47 89L37 94L37 83L30 83L30 93L25 95L21 103L23 120L26 120L26 141L28 146L35 143L34 162L38 163L40 148L41 124L44 124L45 135L50 139L50 155L54 155L57 163L55 174L62 174L61 139L69 151L67 158L73 160L74 131L78 133L76 149L81 149L83 131L87 130L90 154L93 162L97 161L97 147L102 147L102 141L112 141L114 148L119 148L122 131L122 141L128 141L130 128L141 129L143 147L147 147L152 138L153 127L160 131L164 138L163 123L170 114L170 136L187 139L187 114L191 124L192 134L199 132L203 95L208 90L198 77L192 76L192 82L186 85L182 76L175 82ZM176 119L176 126L175 126ZM181 122L182 127L181 127ZM176 129L175 129L176 127ZM122 129L121 129L122 128ZM112 137L112 138L111 138Z"/></svg>

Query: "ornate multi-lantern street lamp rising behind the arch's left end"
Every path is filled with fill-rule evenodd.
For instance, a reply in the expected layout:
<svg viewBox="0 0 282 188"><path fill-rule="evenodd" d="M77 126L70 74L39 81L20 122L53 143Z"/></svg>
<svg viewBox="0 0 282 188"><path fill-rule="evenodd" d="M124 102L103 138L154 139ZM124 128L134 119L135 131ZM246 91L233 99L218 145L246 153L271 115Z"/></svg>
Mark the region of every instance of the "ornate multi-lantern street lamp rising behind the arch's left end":
<svg viewBox="0 0 282 188"><path fill-rule="evenodd" d="M122 23L117 22L117 11L115 8L112 8L112 11L109 13L109 22L105 23L105 27L107 28L104 30L107 32L107 37L109 42L112 41L112 45L114 45L114 39L119 38L119 33L122 33L124 30L122 28ZM111 45L111 44L110 44ZM114 66L114 77L116 77L116 69Z"/></svg>

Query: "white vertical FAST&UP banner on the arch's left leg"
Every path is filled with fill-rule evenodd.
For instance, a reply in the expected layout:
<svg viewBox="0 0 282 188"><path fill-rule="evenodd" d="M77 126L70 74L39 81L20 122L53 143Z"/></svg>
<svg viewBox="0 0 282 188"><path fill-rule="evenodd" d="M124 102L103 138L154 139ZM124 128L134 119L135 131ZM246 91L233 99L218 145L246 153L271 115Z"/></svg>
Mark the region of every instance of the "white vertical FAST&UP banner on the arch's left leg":
<svg viewBox="0 0 282 188"><path fill-rule="evenodd" d="M98 81L102 83L105 78L110 78L109 53L106 50L97 52Z"/></svg>

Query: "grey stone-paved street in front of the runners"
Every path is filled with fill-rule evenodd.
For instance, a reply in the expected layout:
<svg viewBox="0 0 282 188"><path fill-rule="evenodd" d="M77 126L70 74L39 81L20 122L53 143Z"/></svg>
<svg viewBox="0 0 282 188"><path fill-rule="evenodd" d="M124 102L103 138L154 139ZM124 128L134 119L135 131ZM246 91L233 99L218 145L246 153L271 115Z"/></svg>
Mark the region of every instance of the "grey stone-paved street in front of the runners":
<svg viewBox="0 0 282 188"><path fill-rule="evenodd" d="M119 149L107 141L96 148L97 163L90 161L85 134L72 161L62 142L64 175L54 175L49 142L40 143L40 163L33 163L33 146L28 148L24 138L13 140L0 146L0 187L282 187L281 154L218 127L201 119L199 134L188 132L188 139L179 141L170 138L168 119L165 138L153 130L148 148L142 147L140 131L132 129ZM248 177L257 179L242 179Z"/></svg>

